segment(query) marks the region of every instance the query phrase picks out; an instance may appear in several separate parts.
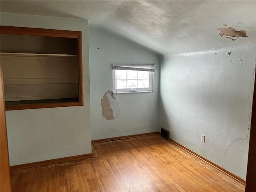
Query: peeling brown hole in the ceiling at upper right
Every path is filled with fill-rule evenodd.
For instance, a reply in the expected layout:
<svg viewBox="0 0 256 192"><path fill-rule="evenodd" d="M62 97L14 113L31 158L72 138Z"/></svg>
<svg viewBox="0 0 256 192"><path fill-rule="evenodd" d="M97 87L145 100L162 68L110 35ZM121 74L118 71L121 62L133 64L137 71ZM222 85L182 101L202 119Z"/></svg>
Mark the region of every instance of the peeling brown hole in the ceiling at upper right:
<svg viewBox="0 0 256 192"><path fill-rule="evenodd" d="M246 31L244 29L242 29L240 31L237 31L229 25L226 25L226 24L223 24L223 25L227 26L227 28L218 28L218 30L221 31L221 33L219 34L220 37L226 37L226 38L229 38L233 41L236 40L236 39L234 39L232 37L248 37L246 35Z"/></svg>

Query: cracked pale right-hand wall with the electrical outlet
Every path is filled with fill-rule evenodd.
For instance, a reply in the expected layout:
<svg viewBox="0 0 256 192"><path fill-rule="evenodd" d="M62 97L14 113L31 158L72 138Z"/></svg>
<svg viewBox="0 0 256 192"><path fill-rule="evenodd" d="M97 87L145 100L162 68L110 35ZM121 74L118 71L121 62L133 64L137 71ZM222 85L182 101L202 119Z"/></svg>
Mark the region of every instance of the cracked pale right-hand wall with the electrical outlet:
<svg viewBox="0 0 256 192"><path fill-rule="evenodd" d="M173 140L244 179L256 62L256 33L249 28L246 32L249 37L236 41L212 33L213 38L204 40L208 50L166 56L159 115L160 127L169 130ZM191 43L198 50L202 42ZM231 55L222 54L226 51Z"/></svg>

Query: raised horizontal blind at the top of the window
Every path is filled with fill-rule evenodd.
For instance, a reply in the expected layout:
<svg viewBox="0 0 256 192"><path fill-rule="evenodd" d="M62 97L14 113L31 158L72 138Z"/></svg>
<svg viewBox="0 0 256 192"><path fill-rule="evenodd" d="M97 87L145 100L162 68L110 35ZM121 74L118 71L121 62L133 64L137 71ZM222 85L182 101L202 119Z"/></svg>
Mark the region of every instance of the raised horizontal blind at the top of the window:
<svg viewBox="0 0 256 192"><path fill-rule="evenodd" d="M120 65L112 64L112 70L134 70L154 72L154 64L150 65Z"/></svg>

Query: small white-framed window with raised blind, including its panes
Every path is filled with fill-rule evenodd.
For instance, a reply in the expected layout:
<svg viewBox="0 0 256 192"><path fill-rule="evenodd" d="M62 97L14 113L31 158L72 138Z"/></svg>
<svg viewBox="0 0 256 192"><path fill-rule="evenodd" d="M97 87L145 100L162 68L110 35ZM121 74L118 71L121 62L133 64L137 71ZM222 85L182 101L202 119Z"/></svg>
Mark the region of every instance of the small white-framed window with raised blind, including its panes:
<svg viewBox="0 0 256 192"><path fill-rule="evenodd" d="M113 92L152 92L154 65L112 65Z"/></svg>

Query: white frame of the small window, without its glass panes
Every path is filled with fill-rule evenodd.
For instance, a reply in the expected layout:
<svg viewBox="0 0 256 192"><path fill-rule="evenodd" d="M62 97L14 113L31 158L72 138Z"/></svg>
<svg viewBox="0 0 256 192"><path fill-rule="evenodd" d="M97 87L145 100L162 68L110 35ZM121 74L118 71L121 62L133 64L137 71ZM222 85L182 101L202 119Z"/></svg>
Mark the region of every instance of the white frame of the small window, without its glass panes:
<svg viewBox="0 0 256 192"><path fill-rule="evenodd" d="M124 88L116 89L116 70L135 70L149 72L149 87L148 88ZM154 80L154 65L114 65L112 64L113 74L113 93L132 93L132 92L153 92Z"/></svg>

